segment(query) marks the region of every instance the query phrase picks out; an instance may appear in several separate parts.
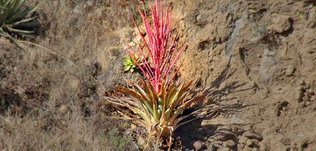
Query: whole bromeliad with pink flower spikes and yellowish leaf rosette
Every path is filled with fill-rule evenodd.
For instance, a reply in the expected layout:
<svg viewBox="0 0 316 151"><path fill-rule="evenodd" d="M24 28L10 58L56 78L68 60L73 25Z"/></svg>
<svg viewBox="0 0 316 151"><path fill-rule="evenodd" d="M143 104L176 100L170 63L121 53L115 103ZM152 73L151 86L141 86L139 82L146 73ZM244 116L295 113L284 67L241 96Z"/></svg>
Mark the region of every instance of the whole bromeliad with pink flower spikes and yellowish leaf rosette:
<svg viewBox="0 0 316 151"><path fill-rule="evenodd" d="M141 36L144 48L136 39L137 49L128 45L130 50L127 50L127 53L144 73L148 82L140 81L140 85L131 83L133 89L114 88L125 94L125 97L107 98L124 114L125 118L139 121L146 127L150 136L169 138L180 125L195 119L187 118L197 112L189 115L182 113L196 102L205 99L208 93L202 91L202 88L195 88L196 83L174 80L183 60L175 70L173 66L186 45L180 48L176 41L177 35L174 36L172 33L171 8L167 8L164 13L162 2L158 3L158 0L155 0L155 6L150 6L151 19L145 10L142 11L139 6L137 8L146 34L140 30L133 18L132 21ZM145 35L147 35L146 39ZM138 58L140 63L137 61ZM120 107L127 107L136 115Z"/></svg>

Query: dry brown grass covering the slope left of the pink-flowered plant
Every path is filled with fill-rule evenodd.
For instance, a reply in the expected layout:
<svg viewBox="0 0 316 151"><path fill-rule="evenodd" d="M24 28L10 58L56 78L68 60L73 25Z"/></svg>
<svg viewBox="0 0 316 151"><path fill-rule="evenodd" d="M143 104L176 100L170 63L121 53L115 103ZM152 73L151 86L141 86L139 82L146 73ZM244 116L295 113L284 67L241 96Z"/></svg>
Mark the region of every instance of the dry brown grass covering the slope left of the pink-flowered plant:
<svg viewBox="0 0 316 151"><path fill-rule="evenodd" d="M42 27L35 43L96 79L111 70L113 61L121 60L125 37L132 33L132 1L28 3L38 1ZM25 46L27 51L0 39L0 101L4 102L0 103L0 150L132 150L120 129L109 136L111 128L121 122L96 118L100 113L95 106L103 101L99 97L103 93L97 91L100 85L69 61L42 48ZM101 69L95 67L96 62Z"/></svg>

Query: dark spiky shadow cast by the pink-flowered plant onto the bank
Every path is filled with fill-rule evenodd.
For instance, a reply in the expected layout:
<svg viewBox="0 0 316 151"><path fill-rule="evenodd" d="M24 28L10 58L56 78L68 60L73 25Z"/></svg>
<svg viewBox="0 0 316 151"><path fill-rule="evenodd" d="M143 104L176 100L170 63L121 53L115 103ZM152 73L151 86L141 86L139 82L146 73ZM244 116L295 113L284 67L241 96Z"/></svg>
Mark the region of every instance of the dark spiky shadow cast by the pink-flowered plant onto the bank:
<svg viewBox="0 0 316 151"><path fill-rule="evenodd" d="M222 70L221 74L214 80L214 82L211 84L209 88L218 89L221 83L223 83L225 80L227 80L229 77L231 77L234 74L235 70L229 72L231 69L230 68L231 59L229 60L225 68ZM226 98L226 99L221 99L223 96L229 96L230 94L233 94L236 92L249 91L253 89L253 88L240 89L246 84L247 83L239 83L238 81L234 81L219 90L210 91L210 95L209 95L210 97L207 103L199 107L199 108L205 108L205 110L207 111L206 114L204 114L201 118L195 121L188 122L182 125L181 127L179 127L175 131L175 134L174 134L175 138L180 138L181 144L186 149L190 149L190 150L195 149L194 143L196 141L202 141L202 142L211 141L211 139L209 140L209 138L214 138L214 137L220 137L221 141L233 140L234 142L237 142L237 136L240 135L239 133L244 132L244 130L239 129L239 131L232 132L232 129L229 127L232 125L240 126L240 125L247 125L247 124L253 124L253 123L202 124L202 121L211 120L220 115L239 114L244 108L254 105L254 104L240 105L240 104L227 103L231 100L237 99L236 96ZM216 98L220 98L220 99L218 100ZM241 97L238 97L238 98L241 98ZM190 112L190 111L187 111L187 112ZM221 127L228 127L228 128L221 128ZM218 144L215 146L220 147L222 146L222 144ZM205 149L205 146L204 146L204 149ZM216 149L217 149L216 147L213 148L213 150L216 150ZM233 149L237 149L237 147Z"/></svg>

